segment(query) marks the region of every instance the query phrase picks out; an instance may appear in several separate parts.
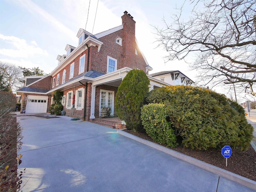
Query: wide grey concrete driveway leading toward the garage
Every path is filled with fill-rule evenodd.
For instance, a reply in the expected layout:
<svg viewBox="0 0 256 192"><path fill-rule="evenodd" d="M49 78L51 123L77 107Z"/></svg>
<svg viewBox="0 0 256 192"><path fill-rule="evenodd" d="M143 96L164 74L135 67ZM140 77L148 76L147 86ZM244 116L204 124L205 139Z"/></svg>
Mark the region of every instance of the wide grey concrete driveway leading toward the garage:
<svg viewBox="0 0 256 192"><path fill-rule="evenodd" d="M17 117L24 128L24 192L254 191L115 129L58 117Z"/></svg>

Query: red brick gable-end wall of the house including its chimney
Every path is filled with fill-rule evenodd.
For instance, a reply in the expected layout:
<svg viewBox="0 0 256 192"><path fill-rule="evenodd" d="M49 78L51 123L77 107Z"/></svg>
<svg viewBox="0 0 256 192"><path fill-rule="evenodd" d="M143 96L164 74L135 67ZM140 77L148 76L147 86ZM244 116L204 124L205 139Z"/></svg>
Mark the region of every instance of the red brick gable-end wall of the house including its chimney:
<svg viewBox="0 0 256 192"><path fill-rule="evenodd" d="M122 16L124 28L112 34L99 38L103 45L98 52L98 47L90 47L89 69L107 72L107 57L117 59L117 69L130 67L146 72L146 63L135 42L135 21L127 14ZM116 43L116 38L122 38L122 46ZM138 55L135 54L135 48Z"/></svg>

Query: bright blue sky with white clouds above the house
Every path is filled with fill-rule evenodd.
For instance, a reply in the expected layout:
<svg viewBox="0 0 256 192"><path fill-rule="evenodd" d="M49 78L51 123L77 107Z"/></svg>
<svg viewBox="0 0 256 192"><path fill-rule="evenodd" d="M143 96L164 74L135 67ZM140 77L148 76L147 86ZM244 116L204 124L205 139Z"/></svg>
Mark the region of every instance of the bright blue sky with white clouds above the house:
<svg viewBox="0 0 256 192"><path fill-rule="evenodd" d="M184 0L0 0L0 60L50 73L67 44L78 46L80 28L97 34L120 26L126 10L136 21L136 38L153 68L150 73L179 70L196 81L197 72L186 62L166 63L168 52L155 42L154 26L163 28L163 18L168 22L182 4ZM189 16L189 2L184 8L183 16Z"/></svg>

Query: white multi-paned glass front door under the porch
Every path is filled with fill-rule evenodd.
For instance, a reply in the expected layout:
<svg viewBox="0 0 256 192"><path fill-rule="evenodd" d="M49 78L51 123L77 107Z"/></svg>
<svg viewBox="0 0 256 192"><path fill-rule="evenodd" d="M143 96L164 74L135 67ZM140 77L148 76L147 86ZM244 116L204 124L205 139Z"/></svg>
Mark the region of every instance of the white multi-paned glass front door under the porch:
<svg viewBox="0 0 256 192"><path fill-rule="evenodd" d="M100 90L100 109L105 106L110 107L110 115L114 115L114 91Z"/></svg>

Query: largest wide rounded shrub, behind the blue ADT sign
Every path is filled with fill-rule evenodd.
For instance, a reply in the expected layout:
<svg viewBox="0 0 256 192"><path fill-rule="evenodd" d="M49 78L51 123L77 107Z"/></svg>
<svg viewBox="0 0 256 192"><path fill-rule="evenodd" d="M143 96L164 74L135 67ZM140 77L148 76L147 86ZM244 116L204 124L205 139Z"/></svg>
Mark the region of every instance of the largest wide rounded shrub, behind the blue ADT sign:
<svg viewBox="0 0 256 192"><path fill-rule="evenodd" d="M208 149L230 145L246 150L253 128L244 111L224 95L191 86L167 86L151 91L148 101L164 103L176 135L186 147Z"/></svg>

